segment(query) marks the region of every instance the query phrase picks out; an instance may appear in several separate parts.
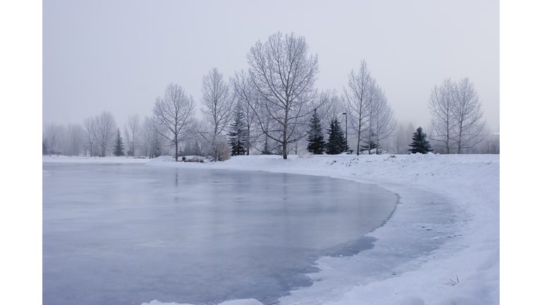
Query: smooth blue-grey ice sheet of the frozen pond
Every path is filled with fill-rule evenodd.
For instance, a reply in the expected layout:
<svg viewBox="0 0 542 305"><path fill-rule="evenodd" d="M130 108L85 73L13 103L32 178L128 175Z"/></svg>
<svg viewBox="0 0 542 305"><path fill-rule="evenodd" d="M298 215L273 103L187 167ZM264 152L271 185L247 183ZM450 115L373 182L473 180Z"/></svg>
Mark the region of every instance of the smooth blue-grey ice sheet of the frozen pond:
<svg viewBox="0 0 542 305"><path fill-rule="evenodd" d="M43 164L43 304L272 303L372 247L397 196L296 174Z"/></svg>

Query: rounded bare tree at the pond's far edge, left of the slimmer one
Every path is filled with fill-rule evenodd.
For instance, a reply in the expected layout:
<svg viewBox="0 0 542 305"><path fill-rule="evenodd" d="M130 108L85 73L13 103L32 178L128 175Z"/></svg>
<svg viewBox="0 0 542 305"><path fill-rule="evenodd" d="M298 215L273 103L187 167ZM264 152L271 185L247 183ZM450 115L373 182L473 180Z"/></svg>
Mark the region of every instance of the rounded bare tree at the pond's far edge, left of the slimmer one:
<svg viewBox="0 0 542 305"><path fill-rule="evenodd" d="M173 83L164 90L164 98L157 97L152 109L152 122L157 133L175 147L175 161L179 157L179 142L191 125L195 112L192 96L188 97L183 88Z"/></svg>

